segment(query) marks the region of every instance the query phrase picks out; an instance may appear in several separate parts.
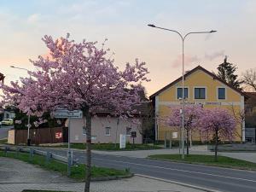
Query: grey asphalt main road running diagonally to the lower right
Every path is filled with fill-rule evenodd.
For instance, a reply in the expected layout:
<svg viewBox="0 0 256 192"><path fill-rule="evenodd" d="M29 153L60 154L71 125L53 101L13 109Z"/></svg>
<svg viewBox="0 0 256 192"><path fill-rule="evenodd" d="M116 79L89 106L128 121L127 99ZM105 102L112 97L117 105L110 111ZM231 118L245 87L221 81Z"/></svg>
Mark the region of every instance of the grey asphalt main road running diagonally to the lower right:
<svg viewBox="0 0 256 192"><path fill-rule="evenodd" d="M63 150L50 149L50 151L55 154L67 154L67 151ZM73 155L75 159L79 159L79 163L85 162L85 152L76 151ZM115 169L130 168L133 173L188 183L207 189L229 192L256 191L256 172L109 154L92 154L92 164Z"/></svg>

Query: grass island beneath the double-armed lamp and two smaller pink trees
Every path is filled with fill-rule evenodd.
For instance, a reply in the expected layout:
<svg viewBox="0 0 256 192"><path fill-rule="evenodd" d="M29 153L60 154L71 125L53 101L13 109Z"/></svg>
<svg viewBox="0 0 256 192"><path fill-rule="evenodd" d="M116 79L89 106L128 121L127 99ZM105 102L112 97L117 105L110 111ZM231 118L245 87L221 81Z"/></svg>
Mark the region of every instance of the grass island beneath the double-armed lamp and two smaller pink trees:
<svg viewBox="0 0 256 192"><path fill-rule="evenodd" d="M248 162L246 160L236 160L230 157L218 156L218 161L214 161L214 155L205 154L189 154L185 155L185 159L181 159L180 154L154 154L148 156L149 159L154 160L169 160L183 163L203 164L207 166L221 166L236 169L244 169L256 171L256 163Z"/></svg>

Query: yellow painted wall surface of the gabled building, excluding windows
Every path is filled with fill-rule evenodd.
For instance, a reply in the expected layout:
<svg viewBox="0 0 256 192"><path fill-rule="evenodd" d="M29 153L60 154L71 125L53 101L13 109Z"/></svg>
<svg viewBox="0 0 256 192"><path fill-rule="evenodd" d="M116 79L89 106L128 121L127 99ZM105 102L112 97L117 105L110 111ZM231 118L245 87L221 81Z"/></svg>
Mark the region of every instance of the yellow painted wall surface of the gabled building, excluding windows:
<svg viewBox="0 0 256 192"><path fill-rule="evenodd" d="M168 113L170 113L170 106L178 106L181 104L181 101L177 99L177 87L181 86L182 81L177 82L177 84L173 84L171 87L161 91L160 94L156 96L156 115L158 115L158 117L163 118L168 115ZM189 96L186 102L190 104L202 103L204 108L229 108L230 113L233 113L234 110L236 114L244 108L244 102L242 100L243 97L241 97L239 92L232 90L229 86L223 84L217 79L213 79L212 76L200 69L195 71L195 73L191 73L185 79L184 87L189 88ZM206 87L206 99L194 99L195 87ZM218 100L218 87L224 87L226 89L226 98L224 100ZM237 125L236 132L239 134L236 134L235 141L241 141L241 129L241 125ZM156 139L164 140L166 131L173 131L173 129L159 123L157 132L158 138ZM194 141L200 140L198 133L192 134L192 136Z"/></svg>

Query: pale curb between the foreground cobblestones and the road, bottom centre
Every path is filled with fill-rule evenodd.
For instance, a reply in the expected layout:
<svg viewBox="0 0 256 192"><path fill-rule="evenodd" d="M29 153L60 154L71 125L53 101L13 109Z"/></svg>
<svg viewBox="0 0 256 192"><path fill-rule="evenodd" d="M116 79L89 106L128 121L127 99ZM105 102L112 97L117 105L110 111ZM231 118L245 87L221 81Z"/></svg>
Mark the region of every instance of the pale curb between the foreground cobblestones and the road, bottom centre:
<svg viewBox="0 0 256 192"><path fill-rule="evenodd" d="M189 188L192 188L192 189L199 189L199 190L206 191L206 192L222 192L220 190L207 189L207 188L204 188L204 187L200 187L200 186L196 186L196 185L192 185L192 184L187 184L187 183L176 182L176 181L172 181L172 180L167 180L167 179L164 179L164 178L149 177L149 176L141 175L141 174L135 174L135 176L150 178L150 179L154 179L154 180L158 180L158 181L166 182L166 183L174 183L174 184L181 185L183 187L189 187Z"/></svg>

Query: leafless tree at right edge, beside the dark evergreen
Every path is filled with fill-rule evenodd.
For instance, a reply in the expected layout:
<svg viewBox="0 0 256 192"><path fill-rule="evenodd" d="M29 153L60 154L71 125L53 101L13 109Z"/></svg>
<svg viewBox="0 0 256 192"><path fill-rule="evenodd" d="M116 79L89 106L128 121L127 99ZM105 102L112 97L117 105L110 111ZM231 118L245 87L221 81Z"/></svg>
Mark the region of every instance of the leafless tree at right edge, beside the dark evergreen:
<svg viewBox="0 0 256 192"><path fill-rule="evenodd" d="M253 91L256 91L256 68L250 68L241 74L243 83Z"/></svg>

